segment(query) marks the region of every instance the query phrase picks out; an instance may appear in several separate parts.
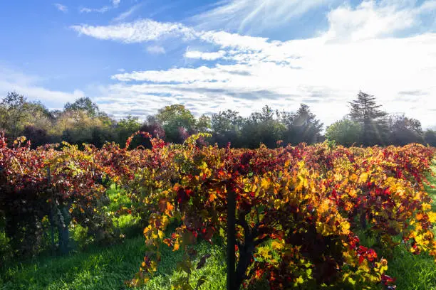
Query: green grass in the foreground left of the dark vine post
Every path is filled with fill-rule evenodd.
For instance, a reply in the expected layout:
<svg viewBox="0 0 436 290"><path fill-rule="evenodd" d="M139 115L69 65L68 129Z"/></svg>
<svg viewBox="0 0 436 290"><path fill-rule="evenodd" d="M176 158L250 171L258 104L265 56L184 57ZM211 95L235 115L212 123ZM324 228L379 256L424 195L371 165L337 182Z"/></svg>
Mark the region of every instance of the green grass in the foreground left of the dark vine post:
<svg viewBox="0 0 436 290"><path fill-rule="evenodd" d="M171 289L180 277L176 263L182 252L164 246L157 274L143 289ZM197 245L199 255L212 254L206 266L195 273L213 277L202 289L225 288L225 257L218 245ZM38 257L36 260L9 265L0 278L0 289L126 289L123 281L132 279L142 262L144 238L126 240L123 245L94 247L66 257ZM194 277L192 278L192 280Z"/></svg>

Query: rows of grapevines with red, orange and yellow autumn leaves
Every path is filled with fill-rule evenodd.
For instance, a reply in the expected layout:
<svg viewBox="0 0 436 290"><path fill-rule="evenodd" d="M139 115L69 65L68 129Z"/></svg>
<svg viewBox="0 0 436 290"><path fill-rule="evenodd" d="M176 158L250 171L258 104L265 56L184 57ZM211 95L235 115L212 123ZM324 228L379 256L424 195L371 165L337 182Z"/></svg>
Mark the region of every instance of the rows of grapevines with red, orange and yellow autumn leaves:
<svg viewBox="0 0 436 290"><path fill-rule="evenodd" d="M147 289L170 259L173 289L214 289L204 269L226 247L231 289L395 289L397 249L436 262L425 189L435 148L221 149L207 134L184 144L137 134L151 149L129 149L133 136L125 148L82 150L0 137L1 267L66 254L73 237L116 247L126 221L141 229L145 251L130 253L143 259L125 287Z"/></svg>

